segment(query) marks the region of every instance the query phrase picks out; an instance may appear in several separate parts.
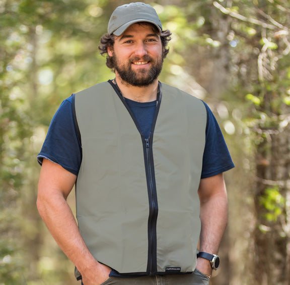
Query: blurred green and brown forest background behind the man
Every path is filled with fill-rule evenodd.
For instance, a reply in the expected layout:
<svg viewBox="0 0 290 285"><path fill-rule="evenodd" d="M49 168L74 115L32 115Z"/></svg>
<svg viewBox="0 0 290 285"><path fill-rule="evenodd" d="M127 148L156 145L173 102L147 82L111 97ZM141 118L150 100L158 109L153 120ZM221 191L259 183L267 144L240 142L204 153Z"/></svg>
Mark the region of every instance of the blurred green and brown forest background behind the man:
<svg viewBox="0 0 290 285"><path fill-rule="evenodd" d="M210 283L289 285L290 2L144 2L173 33L161 81L209 104L236 164ZM63 99L114 78L98 44L125 3L0 0L0 285L80 283L38 215L36 155Z"/></svg>

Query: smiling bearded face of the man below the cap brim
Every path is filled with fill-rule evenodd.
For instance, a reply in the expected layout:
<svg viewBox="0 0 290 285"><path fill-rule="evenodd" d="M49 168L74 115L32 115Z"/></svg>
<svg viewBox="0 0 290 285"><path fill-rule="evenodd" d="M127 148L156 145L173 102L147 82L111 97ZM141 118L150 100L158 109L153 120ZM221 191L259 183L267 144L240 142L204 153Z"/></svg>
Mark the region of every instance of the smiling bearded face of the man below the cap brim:
<svg viewBox="0 0 290 285"><path fill-rule="evenodd" d="M115 37L108 54L115 63L116 76L132 86L148 86L157 80L163 65L160 35L151 25L133 24Z"/></svg>

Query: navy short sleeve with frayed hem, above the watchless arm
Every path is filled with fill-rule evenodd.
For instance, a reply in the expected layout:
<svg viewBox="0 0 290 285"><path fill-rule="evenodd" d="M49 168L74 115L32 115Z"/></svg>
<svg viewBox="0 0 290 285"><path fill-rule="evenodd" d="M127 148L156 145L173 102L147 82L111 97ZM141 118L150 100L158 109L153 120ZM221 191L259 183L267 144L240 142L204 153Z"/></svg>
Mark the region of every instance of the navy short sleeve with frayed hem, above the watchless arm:
<svg viewBox="0 0 290 285"><path fill-rule="evenodd" d="M37 155L40 165L43 158L61 165L70 173L79 173L82 148L75 128L71 97L61 103L51 120L41 151Z"/></svg>

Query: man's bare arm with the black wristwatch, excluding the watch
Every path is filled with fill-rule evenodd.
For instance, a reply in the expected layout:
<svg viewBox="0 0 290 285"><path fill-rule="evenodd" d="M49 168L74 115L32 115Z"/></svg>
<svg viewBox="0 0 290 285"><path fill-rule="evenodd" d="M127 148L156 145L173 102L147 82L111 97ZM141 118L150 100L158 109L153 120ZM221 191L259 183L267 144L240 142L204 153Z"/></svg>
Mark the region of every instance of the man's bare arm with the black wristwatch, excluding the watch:
<svg viewBox="0 0 290 285"><path fill-rule="evenodd" d="M228 198L223 174L200 180L200 251L217 254L228 223ZM196 268L211 275L208 260L197 259Z"/></svg>

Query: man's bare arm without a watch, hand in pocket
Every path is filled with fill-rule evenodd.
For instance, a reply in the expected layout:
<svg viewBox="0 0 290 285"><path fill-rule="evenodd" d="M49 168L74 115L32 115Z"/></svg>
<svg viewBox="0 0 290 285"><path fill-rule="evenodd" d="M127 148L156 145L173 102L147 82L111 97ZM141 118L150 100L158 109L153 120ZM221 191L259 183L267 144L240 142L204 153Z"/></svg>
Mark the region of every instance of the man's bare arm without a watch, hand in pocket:
<svg viewBox="0 0 290 285"><path fill-rule="evenodd" d="M60 165L43 159L37 208L52 237L81 272L84 284L97 285L108 278L111 269L92 256L66 202L76 179Z"/></svg>

